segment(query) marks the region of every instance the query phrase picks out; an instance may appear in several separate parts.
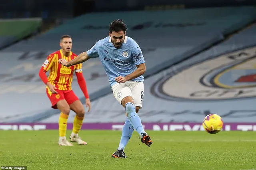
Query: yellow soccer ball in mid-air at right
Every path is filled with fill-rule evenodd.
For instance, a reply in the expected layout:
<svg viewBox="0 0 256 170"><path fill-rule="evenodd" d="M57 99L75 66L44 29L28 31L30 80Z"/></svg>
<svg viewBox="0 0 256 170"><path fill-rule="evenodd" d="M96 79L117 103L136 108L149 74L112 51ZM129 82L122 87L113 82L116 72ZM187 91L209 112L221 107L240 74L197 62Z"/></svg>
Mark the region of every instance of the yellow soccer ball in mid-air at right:
<svg viewBox="0 0 256 170"><path fill-rule="evenodd" d="M220 132L223 127L222 118L216 114L207 115L203 121L204 130L210 134Z"/></svg>

